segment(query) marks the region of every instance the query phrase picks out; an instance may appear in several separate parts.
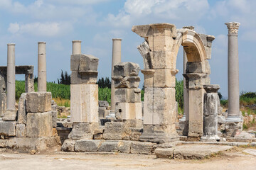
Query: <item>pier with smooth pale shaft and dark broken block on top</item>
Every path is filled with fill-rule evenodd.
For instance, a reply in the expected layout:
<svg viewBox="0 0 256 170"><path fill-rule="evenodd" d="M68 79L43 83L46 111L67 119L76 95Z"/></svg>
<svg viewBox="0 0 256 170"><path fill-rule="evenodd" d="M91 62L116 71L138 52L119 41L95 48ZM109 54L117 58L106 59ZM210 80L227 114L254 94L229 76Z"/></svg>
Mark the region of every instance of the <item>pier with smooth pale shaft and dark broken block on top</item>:
<svg viewBox="0 0 256 170"><path fill-rule="evenodd" d="M77 45L80 46L80 42ZM92 139L93 128L98 125L99 120L96 84L99 59L92 55L78 54L80 50L73 52L75 55L71 55L70 60L70 117L73 130L69 138Z"/></svg>

